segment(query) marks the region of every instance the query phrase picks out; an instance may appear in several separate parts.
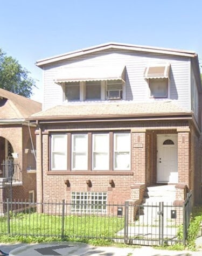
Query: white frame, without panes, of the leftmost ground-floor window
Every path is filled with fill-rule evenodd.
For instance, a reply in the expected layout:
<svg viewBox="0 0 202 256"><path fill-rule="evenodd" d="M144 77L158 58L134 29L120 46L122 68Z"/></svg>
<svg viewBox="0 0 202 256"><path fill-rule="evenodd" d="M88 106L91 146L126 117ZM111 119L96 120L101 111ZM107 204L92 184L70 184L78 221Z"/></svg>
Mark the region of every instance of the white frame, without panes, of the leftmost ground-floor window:
<svg viewBox="0 0 202 256"><path fill-rule="evenodd" d="M63 142L65 144L65 150L61 150L61 151L55 151L53 150L54 149L54 137L61 137L63 136ZM54 160L54 157L53 155L62 155L64 156L64 159L65 159L65 162L64 162L64 167L63 168L53 168L53 160ZM55 171L55 170L67 170L67 134L51 134L51 170L52 171Z"/></svg>

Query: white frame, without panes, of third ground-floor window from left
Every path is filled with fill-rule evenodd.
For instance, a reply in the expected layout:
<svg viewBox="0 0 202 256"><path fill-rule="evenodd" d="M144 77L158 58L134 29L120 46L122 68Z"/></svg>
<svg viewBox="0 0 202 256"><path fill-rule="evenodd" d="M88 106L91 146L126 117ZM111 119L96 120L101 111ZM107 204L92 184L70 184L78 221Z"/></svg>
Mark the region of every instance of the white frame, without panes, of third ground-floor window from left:
<svg viewBox="0 0 202 256"><path fill-rule="evenodd" d="M106 151L96 151L95 150L95 136L97 135L100 135L100 136L107 136L107 139L108 139L108 144L107 144L107 150ZM103 154L107 154L107 158L108 158L108 167L107 168L95 168L94 165L95 165L95 162L94 162L94 155L96 154L100 154L100 155L103 155ZM92 134L92 170L109 170L109 133L94 133Z"/></svg>

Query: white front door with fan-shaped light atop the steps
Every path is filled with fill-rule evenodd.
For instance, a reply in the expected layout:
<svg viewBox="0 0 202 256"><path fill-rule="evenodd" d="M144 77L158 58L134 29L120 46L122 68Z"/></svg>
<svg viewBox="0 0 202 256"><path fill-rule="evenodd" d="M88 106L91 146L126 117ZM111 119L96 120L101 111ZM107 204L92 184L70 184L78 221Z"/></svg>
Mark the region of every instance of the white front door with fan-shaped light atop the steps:
<svg viewBox="0 0 202 256"><path fill-rule="evenodd" d="M157 135L157 182L178 183L177 134Z"/></svg>

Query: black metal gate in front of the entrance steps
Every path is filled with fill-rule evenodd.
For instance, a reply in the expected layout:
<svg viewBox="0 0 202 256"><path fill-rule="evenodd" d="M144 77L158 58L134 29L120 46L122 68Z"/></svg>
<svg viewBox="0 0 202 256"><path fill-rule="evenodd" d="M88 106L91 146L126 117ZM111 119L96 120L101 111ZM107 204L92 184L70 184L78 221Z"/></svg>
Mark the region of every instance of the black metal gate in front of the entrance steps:
<svg viewBox="0 0 202 256"><path fill-rule="evenodd" d="M124 243L172 245L183 242L183 216L183 206L163 202L143 205L126 202Z"/></svg>

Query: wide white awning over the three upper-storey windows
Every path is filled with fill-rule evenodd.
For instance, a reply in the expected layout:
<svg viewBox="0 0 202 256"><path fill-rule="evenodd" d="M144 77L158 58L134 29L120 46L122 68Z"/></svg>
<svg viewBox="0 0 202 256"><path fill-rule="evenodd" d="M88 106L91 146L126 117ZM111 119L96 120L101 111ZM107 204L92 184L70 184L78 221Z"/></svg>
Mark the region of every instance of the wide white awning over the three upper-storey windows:
<svg viewBox="0 0 202 256"><path fill-rule="evenodd" d="M61 68L55 78L55 82L79 82L79 81L125 81L125 66L89 66Z"/></svg>

